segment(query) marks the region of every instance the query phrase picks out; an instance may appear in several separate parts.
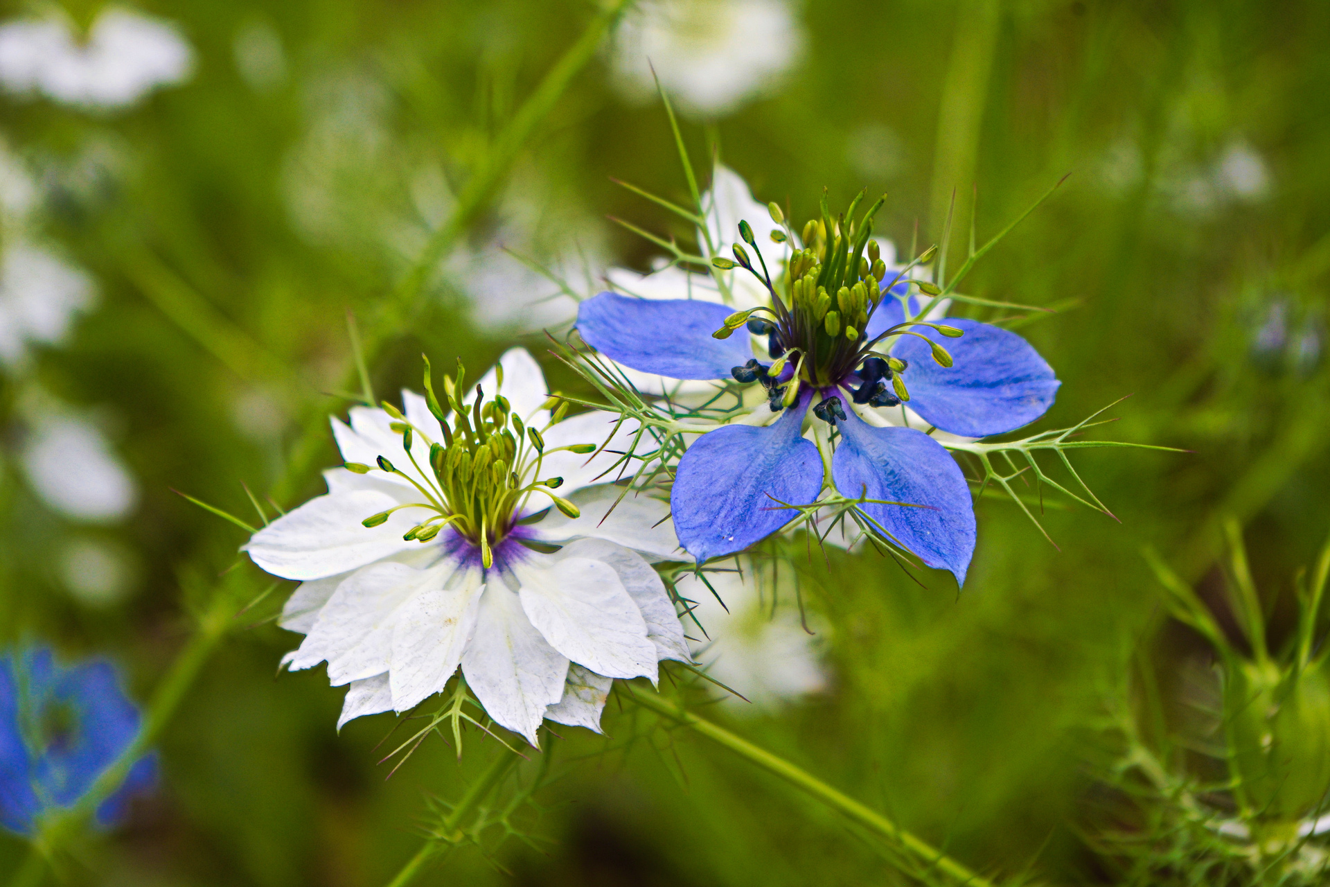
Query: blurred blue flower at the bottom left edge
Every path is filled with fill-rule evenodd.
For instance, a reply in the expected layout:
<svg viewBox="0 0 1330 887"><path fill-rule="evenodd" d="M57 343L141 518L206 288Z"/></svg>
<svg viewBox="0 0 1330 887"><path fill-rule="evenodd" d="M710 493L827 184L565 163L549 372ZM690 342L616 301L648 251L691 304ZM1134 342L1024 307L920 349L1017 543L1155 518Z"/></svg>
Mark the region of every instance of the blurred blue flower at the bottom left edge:
<svg viewBox="0 0 1330 887"><path fill-rule="evenodd" d="M76 803L133 742L138 721L109 662L61 666L48 649L0 658L0 826L31 835L41 814ZM97 807L97 822L116 823L156 779L149 754Z"/></svg>

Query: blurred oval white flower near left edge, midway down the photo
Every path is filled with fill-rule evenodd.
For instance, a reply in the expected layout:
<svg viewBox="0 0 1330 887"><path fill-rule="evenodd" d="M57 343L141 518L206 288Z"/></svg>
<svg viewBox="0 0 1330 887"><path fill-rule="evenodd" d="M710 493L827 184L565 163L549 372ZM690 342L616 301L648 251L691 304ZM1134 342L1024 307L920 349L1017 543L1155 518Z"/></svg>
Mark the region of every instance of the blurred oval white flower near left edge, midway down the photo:
<svg viewBox="0 0 1330 887"><path fill-rule="evenodd" d="M138 501L133 476L101 428L73 412L36 414L21 464L43 501L74 520L118 520Z"/></svg>

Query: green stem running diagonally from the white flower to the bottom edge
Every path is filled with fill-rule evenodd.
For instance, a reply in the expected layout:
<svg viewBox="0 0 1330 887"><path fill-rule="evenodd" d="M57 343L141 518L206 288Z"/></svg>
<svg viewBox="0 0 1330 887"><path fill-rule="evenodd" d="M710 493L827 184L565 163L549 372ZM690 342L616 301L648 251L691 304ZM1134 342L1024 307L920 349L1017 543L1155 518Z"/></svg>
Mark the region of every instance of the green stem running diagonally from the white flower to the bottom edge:
<svg viewBox="0 0 1330 887"><path fill-rule="evenodd" d="M645 693L626 682L620 682L618 686L644 709L650 709L661 717L669 718L670 721L681 723L686 727L692 727L708 739L718 742L742 758L747 758L751 763L755 763L767 773L781 777L795 789L821 801L868 831L884 838L888 843L899 847L935 871L940 871L960 883L972 884L974 887L992 887L992 882L988 879L944 855L926 840L915 838L912 834L900 828L876 810L872 810L845 793L833 789L806 770L794 766L785 758L777 757L765 749L759 749L747 739L730 733L722 726L700 718L690 711L685 711L678 705L656 693Z"/></svg>

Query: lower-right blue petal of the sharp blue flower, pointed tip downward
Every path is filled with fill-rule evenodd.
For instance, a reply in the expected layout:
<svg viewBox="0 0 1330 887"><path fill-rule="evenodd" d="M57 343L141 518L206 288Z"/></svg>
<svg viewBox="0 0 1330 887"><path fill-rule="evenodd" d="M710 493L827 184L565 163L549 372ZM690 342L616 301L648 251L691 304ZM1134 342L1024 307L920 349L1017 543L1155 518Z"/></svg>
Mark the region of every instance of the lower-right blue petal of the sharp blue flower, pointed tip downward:
<svg viewBox="0 0 1330 887"><path fill-rule="evenodd" d="M950 569L964 585L975 553L975 509L951 453L922 431L874 428L854 414L838 428L831 476L841 495L924 505L859 508L924 564Z"/></svg>

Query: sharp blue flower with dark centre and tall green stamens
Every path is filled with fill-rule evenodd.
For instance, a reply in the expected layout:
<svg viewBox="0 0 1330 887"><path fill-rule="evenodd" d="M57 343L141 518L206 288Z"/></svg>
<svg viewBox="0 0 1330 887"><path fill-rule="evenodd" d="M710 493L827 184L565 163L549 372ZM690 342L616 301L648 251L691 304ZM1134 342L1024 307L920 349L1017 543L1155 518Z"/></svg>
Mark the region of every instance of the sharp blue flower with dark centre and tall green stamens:
<svg viewBox="0 0 1330 887"><path fill-rule="evenodd" d="M880 427L887 420L876 410L908 402L940 431L986 438L1043 416L1060 383L1008 330L918 317L911 281L887 271L870 238L875 209L855 227L845 217L830 222L823 207L823 221L803 229L806 249L771 269L774 281L735 246L737 263L767 287L769 307L732 313L710 302L617 293L581 303L581 338L613 360L674 379L759 383L769 406L758 410L783 411L767 426L708 432L680 459L670 508L680 541L698 561L739 552L798 516L779 503L807 505L822 493L825 463L803 436L811 407L834 434L830 469L841 495L903 503L858 508L879 535L964 582L975 516L960 467L923 431ZM757 249L746 223L739 231ZM751 335L732 335L743 326Z"/></svg>

